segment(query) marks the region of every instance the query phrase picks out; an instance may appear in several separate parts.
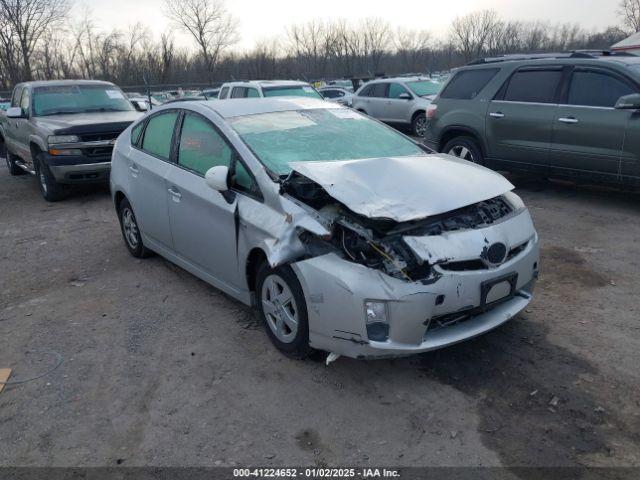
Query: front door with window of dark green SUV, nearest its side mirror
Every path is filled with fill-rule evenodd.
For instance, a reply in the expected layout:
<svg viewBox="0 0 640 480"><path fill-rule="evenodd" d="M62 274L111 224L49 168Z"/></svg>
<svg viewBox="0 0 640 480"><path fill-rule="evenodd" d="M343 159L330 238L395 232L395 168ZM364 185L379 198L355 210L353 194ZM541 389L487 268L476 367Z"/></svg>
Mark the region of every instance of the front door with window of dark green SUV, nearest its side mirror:
<svg viewBox="0 0 640 480"><path fill-rule="evenodd" d="M630 80L612 70L576 67L555 118L550 166L615 180L632 112L614 106L620 97L637 91Z"/></svg>

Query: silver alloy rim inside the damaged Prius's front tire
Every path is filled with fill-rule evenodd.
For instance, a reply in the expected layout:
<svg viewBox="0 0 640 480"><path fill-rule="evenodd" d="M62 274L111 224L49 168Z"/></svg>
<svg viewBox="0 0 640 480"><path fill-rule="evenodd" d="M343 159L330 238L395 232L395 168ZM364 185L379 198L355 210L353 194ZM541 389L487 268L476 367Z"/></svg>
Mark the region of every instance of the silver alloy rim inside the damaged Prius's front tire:
<svg viewBox="0 0 640 480"><path fill-rule="evenodd" d="M261 301L267 325L276 338L293 342L298 333L298 306L287 282L279 275L269 275L262 284Z"/></svg>

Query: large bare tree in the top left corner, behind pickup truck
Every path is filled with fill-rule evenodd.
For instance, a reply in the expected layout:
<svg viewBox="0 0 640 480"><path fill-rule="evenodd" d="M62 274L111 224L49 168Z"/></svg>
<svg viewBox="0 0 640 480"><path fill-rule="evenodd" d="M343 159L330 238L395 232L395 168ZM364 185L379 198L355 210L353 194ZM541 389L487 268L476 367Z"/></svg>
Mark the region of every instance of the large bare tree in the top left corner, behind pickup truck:
<svg viewBox="0 0 640 480"><path fill-rule="evenodd" d="M69 13L68 0L0 0L0 17L18 44L23 78L31 80L31 60L47 29L61 23Z"/></svg>

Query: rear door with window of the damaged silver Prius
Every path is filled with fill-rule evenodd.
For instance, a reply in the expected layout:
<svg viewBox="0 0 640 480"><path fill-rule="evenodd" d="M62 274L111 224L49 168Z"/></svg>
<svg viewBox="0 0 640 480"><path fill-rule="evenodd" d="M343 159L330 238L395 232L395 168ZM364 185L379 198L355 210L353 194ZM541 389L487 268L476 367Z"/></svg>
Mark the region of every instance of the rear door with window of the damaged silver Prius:
<svg viewBox="0 0 640 480"><path fill-rule="evenodd" d="M131 149L131 206L145 237L172 249L166 176L179 110L165 110L147 120L142 138ZM146 241L146 239L145 239Z"/></svg>

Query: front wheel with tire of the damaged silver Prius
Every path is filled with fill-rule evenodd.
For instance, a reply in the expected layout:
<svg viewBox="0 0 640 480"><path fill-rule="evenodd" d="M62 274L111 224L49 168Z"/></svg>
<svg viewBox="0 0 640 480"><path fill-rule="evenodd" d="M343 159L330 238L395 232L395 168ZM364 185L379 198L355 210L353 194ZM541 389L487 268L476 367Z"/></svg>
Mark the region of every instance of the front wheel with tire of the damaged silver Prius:
<svg viewBox="0 0 640 480"><path fill-rule="evenodd" d="M258 313L271 342L285 355L306 358L309 318L302 287L291 267L271 268L264 263L256 280Z"/></svg>

